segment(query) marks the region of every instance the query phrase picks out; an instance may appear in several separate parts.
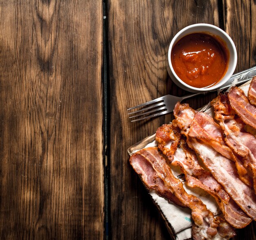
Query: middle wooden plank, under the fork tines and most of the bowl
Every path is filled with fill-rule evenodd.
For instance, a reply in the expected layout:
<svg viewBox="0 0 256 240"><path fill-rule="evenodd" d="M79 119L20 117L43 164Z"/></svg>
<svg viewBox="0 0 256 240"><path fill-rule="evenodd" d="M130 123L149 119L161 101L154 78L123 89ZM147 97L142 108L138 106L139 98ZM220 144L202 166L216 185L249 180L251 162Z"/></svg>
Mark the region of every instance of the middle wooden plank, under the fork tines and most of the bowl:
<svg viewBox="0 0 256 240"><path fill-rule="evenodd" d="M130 123L126 109L171 93L166 70L168 46L187 25L218 25L217 1L108 1L110 65L110 215L113 239L169 239L164 222L139 177L128 163L126 150L171 121L171 114ZM186 102L202 107L212 96Z"/></svg>

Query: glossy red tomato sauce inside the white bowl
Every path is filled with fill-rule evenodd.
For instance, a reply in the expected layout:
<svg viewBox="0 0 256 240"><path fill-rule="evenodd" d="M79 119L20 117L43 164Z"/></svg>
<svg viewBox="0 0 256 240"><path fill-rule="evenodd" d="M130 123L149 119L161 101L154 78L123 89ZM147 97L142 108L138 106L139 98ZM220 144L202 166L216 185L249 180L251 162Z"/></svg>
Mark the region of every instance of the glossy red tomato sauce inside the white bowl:
<svg viewBox="0 0 256 240"><path fill-rule="evenodd" d="M224 43L206 33L181 38L173 47L171 62L177 76L192 87L210 87L225 75L229 53Z"/></svg>

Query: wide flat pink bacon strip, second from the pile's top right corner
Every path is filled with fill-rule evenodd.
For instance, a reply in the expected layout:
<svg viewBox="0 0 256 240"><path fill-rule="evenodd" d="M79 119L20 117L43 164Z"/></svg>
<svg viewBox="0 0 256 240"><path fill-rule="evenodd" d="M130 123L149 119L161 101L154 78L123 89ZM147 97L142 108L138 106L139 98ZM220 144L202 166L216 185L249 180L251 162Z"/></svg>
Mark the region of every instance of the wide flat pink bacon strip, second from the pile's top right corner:
<svg viewBox="0 0 256 240"><path fill-rule="evenodd" d="M243 90L239 87L231 87L228 98L231 108L243 122L256 129L256 107L249 102Z"/></svg>

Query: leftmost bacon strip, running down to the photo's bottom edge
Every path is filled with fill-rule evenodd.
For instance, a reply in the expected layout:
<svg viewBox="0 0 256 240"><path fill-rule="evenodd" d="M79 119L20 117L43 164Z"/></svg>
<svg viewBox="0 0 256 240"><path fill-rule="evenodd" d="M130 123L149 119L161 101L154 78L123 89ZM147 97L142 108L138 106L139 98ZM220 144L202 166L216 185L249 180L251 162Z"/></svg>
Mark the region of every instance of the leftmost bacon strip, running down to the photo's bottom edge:
<svg viewBox="0 0 256 240"><path fill-rule="evenodd" d="M157 191L171 202L174 196L180 206L191 209L193 239L229 239L235 236L234 229L225 220L214 217L199 198L186 193L182 182L173 176L171 168L156 147L139 150L130 157L130 164L146 188Z"/></svg>

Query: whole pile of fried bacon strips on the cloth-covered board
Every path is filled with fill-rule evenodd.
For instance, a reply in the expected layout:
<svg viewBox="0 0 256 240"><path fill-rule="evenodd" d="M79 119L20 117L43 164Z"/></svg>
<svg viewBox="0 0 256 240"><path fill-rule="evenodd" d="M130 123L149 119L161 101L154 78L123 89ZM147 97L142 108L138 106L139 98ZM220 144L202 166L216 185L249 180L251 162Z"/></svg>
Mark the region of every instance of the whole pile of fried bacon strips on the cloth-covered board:
<svg viewBox="0 0 256 240"><path fill-rule="evenodd" d="M130 157L148 190L191 209L195 240L229 239L235 236L231 226L243 228L256 220L256 76L248 98L240 88L231 87L211 105L216 121L177 103L173 122L157 130L158 148L145 148ZM189 187L212 195L225 220L186 193L169 164L180 167Z"/></svg>

